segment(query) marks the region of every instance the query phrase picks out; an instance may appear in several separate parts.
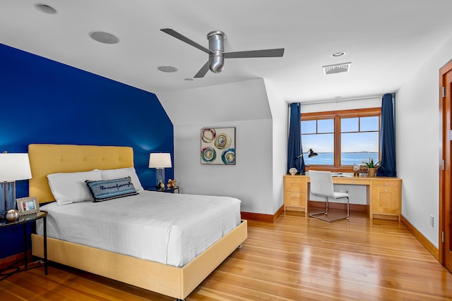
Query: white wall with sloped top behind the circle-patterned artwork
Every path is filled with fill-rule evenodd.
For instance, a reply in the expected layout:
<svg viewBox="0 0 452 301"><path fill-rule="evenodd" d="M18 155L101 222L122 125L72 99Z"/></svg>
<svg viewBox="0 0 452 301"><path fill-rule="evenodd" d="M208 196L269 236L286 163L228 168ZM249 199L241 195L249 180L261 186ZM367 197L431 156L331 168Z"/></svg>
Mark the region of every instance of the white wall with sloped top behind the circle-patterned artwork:
<svg viewBox="0 0 452 301"><path fill-rule="evenodd" d="M174 178L183 193L227 195L273 214L273 121L262 79L158 93L174 125ZM201 164L201 128L236 127L236 165Z"/></svg>

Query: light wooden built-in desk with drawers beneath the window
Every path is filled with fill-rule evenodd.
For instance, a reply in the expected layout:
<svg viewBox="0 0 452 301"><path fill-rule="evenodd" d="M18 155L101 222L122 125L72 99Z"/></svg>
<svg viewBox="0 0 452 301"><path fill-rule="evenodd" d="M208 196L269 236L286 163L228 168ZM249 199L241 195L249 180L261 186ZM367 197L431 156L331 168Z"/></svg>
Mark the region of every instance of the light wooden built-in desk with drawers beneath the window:
<svg viewBox="0 0 452 301"><path fill-rule="evenodd" d="M310 194L308 183L309 176L284 176L284 210L304 211L307 216ZM402 179L333 177L333 183L366 185L369 218L400 221Z"/></svg>

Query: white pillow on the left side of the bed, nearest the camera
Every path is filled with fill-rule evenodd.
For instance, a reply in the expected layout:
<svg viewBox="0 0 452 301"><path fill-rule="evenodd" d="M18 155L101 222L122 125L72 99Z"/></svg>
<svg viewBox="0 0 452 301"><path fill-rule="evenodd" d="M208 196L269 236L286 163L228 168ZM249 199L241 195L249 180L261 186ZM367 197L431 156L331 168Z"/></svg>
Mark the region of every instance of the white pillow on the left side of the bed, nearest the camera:
<svg viewBox="0 0 452 301"><path fill-rule="evenodd" d="M66 205L75 202L93 201L85 180L102 180L100 170L82 171L78 173L52 173L47 175L50 190L57 204Z"/></svg>

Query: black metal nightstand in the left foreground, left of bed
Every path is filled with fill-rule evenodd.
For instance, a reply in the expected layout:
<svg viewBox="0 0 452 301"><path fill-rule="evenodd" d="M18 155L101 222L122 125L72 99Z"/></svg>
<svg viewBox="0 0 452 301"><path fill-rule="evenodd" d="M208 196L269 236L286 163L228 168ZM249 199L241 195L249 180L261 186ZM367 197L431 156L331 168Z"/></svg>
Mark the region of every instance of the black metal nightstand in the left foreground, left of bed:
<svg viewBox="0 0 452 301"><path fill-rule="evenodd" d="M38 219L44 220L44 273L47 275L47 211L39 211L37 214L27 214L23 216L19 216L16 221L8 221L7 219L0 219L0 228L6 228L8 226L16 226L16 225L23 225L23 259L20 259L20 261L15 262L11 266L8 266L6 269L2 269L0 271L0 281L4 280L5 278L8 278L9 276L16 274L20 271L27 271L29 269L35 269L39 266L42 266L42 264L37 266L30 266L28 267L28 256L27 256L27 223L34 223L33 229L35 229L35 222ZM35 231L35 230L33 230ZM25 262L25 268L22 268L19 264L20 262Z"/></svg>

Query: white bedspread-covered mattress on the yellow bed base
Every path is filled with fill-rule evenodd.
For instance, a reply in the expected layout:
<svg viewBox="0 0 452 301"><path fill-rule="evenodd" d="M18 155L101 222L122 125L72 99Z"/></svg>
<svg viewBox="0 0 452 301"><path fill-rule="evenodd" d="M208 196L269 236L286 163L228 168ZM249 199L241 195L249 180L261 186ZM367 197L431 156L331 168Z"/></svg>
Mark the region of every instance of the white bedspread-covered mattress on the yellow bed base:
<svg viewBox="0 0 452 301"><path fill-rule="evenodd" d="M47 236L184 266L240 223L233 197L143 191L105 202L41 207L48 211ZM42 219L37 223L42 235Z"/></svg>

